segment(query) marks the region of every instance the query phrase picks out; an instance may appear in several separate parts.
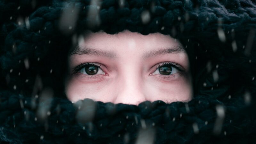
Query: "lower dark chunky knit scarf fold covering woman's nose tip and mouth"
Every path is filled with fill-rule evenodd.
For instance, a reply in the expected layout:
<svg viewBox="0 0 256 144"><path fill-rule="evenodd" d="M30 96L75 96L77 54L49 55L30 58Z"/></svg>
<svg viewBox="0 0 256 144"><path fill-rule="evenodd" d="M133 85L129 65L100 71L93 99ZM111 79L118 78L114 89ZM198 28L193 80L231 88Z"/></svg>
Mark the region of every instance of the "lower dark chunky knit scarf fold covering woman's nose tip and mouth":
<svg viewBox="0 0 256 144"><path fill-rule="evenodd" d="M139 106L91 99L71 103L1 91L0 139L9 143L253 142L255 105L228 103L205 96L188 103L145 101Z"/></svg>

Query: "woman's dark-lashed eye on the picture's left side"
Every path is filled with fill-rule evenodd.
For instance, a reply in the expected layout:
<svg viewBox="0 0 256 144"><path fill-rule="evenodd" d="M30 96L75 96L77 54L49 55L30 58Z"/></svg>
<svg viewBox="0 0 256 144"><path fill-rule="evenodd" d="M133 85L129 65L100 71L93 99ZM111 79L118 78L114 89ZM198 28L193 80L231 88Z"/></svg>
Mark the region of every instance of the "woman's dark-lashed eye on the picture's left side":
<svg viewBox="0 0 256 144"><path fill-rule="evenodd" d="M105 72L102 70L101 65L93 62L81 63L74 69L74 73L80 74L83 77L88 78L105 75Z"/></svg>

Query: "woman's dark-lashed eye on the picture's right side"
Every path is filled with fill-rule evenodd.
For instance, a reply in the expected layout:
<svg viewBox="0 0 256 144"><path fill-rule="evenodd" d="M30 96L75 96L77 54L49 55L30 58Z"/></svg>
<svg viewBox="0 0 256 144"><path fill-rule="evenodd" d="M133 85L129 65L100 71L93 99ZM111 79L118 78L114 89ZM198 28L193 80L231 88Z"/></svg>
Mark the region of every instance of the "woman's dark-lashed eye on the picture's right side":
<svg viewBox="0 0 256 144"><path fill-rule="evenodd" d="M179 72L185 71L180 65L173 62L162 62L157 64L156 70L151 75L159 75L163 78L175 77Z"/></svg>

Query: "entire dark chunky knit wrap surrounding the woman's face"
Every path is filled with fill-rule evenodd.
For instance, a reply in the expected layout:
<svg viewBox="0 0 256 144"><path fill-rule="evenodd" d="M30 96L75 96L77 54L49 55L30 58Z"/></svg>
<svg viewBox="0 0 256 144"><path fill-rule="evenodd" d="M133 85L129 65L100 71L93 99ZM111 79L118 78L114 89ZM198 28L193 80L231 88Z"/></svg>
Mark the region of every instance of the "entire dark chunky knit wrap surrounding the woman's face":
<svg viewBox="0 0 256 144"><path fill-rule="evenodd" d="M0 17L2 143L255 143L255 1L1 0ZM125 29L180 40L193 100L67 100L78 37Z"/></svg>

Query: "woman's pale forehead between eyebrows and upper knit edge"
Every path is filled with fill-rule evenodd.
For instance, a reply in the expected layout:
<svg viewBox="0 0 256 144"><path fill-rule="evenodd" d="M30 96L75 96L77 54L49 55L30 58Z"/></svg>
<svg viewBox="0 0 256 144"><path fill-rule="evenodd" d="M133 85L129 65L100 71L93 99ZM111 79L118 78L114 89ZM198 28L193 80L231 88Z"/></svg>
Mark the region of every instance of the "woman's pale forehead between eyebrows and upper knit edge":
<svg viewBox="0 0 256 144"><path fill-rule="evenodd" d="M101 50L120 50L120 48L154 50L169 46L181 46L181 44L169 35L163 35L161 33L142 35L137 32L125 30L114 35L105 32L88 32L84 36L83 43L79 43L80 48L84 46Z"/></svg>

